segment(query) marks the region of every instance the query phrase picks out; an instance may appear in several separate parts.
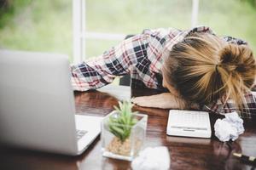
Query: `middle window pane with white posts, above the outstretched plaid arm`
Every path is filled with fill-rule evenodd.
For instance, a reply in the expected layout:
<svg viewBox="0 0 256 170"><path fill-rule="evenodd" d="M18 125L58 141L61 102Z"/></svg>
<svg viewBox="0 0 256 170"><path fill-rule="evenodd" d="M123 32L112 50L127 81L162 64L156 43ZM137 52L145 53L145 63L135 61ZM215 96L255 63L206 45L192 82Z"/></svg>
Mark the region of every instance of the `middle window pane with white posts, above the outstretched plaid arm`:
<svg viewBox="0 0 256 170"><path fill-rule="evenodd" d="M126 35L145 28L187 29L192 9L196 25L197 6L198 0L73 0L74 61L100 55Z"/></svg>

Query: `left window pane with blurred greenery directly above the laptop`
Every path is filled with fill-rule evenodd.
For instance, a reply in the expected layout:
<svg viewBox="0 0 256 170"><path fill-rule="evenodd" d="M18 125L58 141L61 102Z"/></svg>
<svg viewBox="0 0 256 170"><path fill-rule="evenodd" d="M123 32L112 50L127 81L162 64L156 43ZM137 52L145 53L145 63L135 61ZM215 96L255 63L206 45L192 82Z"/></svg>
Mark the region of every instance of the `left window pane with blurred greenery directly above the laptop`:
<svg viewBox="0 0 256 170"><path fill-rule="evenodd" d="M0 0L0 48L72 56L72 0Z"/></svg>

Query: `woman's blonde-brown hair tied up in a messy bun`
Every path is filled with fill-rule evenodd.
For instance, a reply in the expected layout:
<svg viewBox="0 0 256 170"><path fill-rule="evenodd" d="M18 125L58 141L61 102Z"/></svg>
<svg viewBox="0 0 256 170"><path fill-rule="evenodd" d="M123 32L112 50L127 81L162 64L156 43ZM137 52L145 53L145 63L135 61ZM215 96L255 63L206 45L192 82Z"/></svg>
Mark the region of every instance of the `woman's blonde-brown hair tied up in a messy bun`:
<svg viewBox="0 0 256 170"><path fill-rule="evenodd" d="M234 99L241 110L244 94L253 86L256 66L248 46L193 33L173 46L163 71L166 82L183 99L199 105Z"/></svg>

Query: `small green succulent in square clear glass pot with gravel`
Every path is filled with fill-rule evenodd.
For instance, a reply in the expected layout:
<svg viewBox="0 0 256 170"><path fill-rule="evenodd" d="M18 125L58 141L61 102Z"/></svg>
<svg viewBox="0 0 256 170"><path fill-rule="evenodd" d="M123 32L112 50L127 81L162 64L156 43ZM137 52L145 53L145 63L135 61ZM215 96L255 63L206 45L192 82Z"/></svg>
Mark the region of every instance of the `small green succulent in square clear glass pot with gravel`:
<svg viewBox="0 0 256 170"><path fill-rule="evenodd" d="M142 149L148 116L131 111L130 101L119 102L102 121L102 155L132 161Z"/></svg>

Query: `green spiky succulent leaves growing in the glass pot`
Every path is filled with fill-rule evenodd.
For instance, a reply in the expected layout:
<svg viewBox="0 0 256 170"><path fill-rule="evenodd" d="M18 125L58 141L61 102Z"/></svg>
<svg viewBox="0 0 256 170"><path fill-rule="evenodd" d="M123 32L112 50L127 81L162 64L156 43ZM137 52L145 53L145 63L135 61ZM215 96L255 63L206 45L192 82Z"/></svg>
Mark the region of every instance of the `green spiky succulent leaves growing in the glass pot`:
<svg viewBox="0 0 256 170"><path fill-rule="evenodd" d="M119 102L119 108L115 105L113 106L119 114L109 117L109 131L120 139L121 142L129 138L131 127L137 123L137 119L134 116L137 112L131 111L132 106L131 101Z"/></svg>

